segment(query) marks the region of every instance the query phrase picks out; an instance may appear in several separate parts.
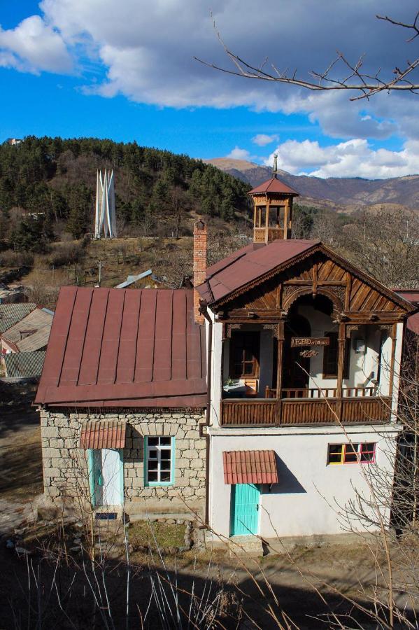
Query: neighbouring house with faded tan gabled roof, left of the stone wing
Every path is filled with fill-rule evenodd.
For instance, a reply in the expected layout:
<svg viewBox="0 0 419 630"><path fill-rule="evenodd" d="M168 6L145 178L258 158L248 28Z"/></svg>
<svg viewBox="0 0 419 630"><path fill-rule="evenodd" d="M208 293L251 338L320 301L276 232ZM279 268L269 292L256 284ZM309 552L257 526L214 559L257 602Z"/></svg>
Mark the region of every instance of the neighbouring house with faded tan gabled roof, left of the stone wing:
<svg viewBox="0 0 419 630"><path fill-rule="evenodd" d="M0 304L0 322L2 314L3 322L8 322L7 328L2 325L0 332L2 356L10 352L45 350L54 317L50 309L36 307L36 304Z"/></svg>

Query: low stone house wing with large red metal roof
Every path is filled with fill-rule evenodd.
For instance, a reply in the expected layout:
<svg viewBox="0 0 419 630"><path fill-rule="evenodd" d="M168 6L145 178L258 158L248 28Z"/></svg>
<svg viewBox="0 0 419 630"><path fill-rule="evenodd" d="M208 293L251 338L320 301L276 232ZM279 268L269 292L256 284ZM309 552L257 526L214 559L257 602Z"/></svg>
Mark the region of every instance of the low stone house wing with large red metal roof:
<svg viewBox="0 0 419 630"><path fill-rule="evenodd" d="M62 288L36 395L45 496L204 516L204 334L192 290Z"/></svg>

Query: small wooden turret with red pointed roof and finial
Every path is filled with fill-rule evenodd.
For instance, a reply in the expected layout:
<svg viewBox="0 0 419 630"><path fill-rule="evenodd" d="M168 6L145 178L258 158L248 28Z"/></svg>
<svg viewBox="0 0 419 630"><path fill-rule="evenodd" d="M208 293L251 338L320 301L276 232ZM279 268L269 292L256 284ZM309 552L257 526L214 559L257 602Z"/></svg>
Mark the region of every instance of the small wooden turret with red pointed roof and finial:
<svg viewBox="0 0 419 630"><path fill-rule="evenodd" d="M292 229L292 200L296 190L277 178L277 156L274 170L267 179L248 193L253 199L253 241L269 243L276 239L290 239Z"/></svg>

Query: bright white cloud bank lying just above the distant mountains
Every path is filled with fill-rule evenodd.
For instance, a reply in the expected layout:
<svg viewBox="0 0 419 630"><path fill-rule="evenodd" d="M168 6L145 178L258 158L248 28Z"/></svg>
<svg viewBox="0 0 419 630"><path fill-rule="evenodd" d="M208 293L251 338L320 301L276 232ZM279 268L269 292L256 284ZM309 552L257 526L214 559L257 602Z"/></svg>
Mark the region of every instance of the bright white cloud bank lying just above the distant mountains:
<svg viewBox="0 0 419 630"><path fill-rule="evenodd" d="M361 138L324 147L317 141L287 140L274 153L280 169L299 175L385 179L419 173L419 141L406 141L402 151L388 151L374 150ZM274 153L264 160L267 166Z"/></svg>

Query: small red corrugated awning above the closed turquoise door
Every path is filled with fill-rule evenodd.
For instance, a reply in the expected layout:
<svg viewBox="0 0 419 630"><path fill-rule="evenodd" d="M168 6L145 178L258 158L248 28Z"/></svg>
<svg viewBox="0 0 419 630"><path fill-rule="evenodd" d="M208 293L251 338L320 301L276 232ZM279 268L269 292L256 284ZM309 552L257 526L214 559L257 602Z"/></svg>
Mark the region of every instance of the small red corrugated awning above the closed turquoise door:
<svg viewBox="0 0 419 630"><path fill-rule="evenodd" d="M225 484L277 484L275 451L224 451Z"/></svg>

